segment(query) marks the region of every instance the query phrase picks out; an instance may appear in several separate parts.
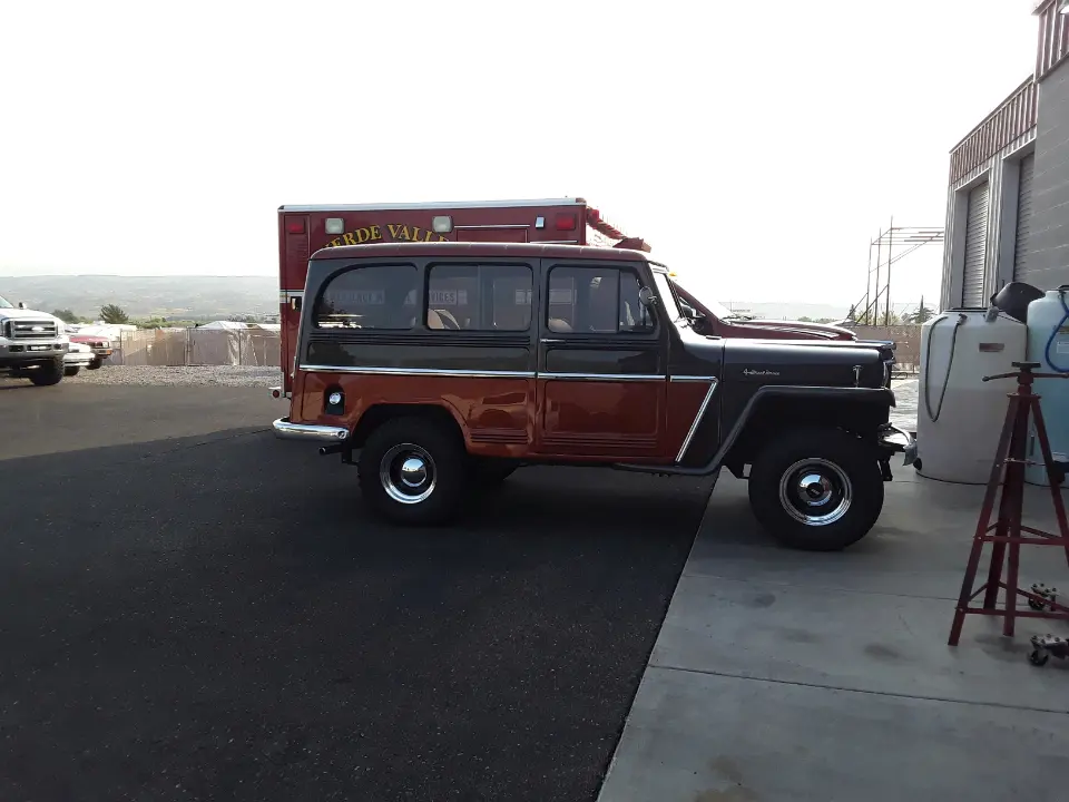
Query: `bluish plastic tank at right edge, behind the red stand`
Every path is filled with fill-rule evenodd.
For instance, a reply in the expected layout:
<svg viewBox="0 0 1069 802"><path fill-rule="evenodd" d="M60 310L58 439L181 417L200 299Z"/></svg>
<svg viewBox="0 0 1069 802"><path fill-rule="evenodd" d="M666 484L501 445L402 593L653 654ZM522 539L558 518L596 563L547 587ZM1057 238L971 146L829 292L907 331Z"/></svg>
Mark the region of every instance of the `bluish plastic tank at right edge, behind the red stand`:
<svg viewBox="0 0 1069 802"><path fill-rule="evenodd" d="M1051 290L1028 305L1028 360L1039 362L1040 373L1069 373L1069 285ZM1037 379L1034 391L1042 397L1043 423L1050 450L1059 462L1069 460L1069 379ZM1028 439L1024 479L1031 485L1047 485L1043 452L1031 427Z"/></svg>

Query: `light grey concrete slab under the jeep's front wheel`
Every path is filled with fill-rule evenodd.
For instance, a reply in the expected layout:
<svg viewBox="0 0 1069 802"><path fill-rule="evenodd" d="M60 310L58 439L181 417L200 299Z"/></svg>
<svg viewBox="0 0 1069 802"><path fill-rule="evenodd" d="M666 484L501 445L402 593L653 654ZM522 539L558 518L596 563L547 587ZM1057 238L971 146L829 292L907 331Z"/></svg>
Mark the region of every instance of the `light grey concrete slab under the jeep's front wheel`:
<svg viewBox="0 0 1069 802"><path fill-rule="evenodd" d="M600 802L1056 799L1069 663L1027 661L1061 622L970 616L947 645L982 488L895 469L877 528L836 555L765 538L725 475L673 598ZM1053 529L1049 495L1027 517ZM1061 549L1021 581L1069 587Z"/></svg>

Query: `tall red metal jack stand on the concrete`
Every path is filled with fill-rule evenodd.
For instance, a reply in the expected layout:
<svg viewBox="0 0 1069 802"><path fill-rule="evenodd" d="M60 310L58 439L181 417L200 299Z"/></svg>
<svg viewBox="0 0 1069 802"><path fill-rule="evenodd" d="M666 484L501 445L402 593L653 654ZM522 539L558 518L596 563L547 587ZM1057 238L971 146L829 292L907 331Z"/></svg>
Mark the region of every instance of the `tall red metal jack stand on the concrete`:
<svg viewBox="0 0 1069 802"><path fill-rule="evenodd" d="M988 491L983 497L983 507L980 508L980 520L977 522L972 552L969 555L965 577L961 584L961 596L954 610L954 623L950 628L949 643L951 646L958 645L961 637L961 627L967 615L1002 617L1002 634L1006 636L1013 635L1013 625L1017 618L1069 620L1069 607L1051 600L1048 596L1028 593L1018 587L1018 567L1022 545L1061 546L1066 550L1066 563L1069 564L1069 525L1066 522L1066 507L1061 498L1063 470L1051 457L1047 426L1043 423L1043 413L1039 408L1040 397L1032 392L1032 381L1034 379L1069 379L1069 374L1033 373L1032 371L1040 366L1039 362L1014 362L1013 366L1019 369L1017 373L1001 373L983 378L983 381L1016 378L1017 392L1009 394L1010 403L1006 410L1002 437L999 439L999 448L994 453L994 464L991 467L991 478L988 480ZM1042 449L1043 462L1047 466L1050 497L1058 519L1058 535L1021 525L1021 508L1024 503L1024 467L1028 464L1026 441L1028 440L1029 414L1032 415L1036 423L1036 434ZM999 519L991 524L994 498L1000 487L1002 493L999 500ZM996 530L993 535L991 534L992 529ZM988 580L979 589L973 590L983 545L988 542L992 544ZM1007 549L1007 546L1009 546L1009 549ZM1009 551L1009 573L1006 581L1002 581L1002 564L1006 560L1007 551ZM1006 590L1006 605L1003 607L996 606L1000 588ZM981 593L984 594L983 606L970 607L969 604ZM1018 596L1029 600L1030 609L1018 609Z"/></svg>

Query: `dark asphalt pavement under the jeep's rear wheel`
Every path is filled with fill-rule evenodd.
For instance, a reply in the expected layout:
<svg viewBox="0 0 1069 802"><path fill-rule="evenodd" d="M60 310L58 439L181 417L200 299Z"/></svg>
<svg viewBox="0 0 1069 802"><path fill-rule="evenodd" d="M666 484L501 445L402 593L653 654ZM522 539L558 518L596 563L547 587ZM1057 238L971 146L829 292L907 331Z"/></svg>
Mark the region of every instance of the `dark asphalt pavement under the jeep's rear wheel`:
<svg viewBox="0 0 1069 802"><path fill-rule="evenodd" d="M0 799L594 799L708 481L370 518L263 389L0 381Z"/></svg>

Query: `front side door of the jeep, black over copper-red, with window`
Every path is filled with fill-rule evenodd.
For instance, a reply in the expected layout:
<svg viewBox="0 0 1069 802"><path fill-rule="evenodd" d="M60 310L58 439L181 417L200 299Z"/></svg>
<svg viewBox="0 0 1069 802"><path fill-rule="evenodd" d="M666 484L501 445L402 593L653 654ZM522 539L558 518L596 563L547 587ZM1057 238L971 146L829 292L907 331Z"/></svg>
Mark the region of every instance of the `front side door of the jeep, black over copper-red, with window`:
<svg viewBox="0 0 1069 802"><path fill-rule="evenodd" d="M541 267L536 450L656 459L667 417L667 339L657 310L638 300L643 263L542 260Z"/></svg>

